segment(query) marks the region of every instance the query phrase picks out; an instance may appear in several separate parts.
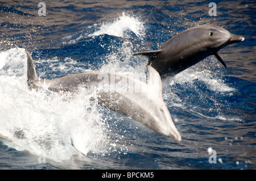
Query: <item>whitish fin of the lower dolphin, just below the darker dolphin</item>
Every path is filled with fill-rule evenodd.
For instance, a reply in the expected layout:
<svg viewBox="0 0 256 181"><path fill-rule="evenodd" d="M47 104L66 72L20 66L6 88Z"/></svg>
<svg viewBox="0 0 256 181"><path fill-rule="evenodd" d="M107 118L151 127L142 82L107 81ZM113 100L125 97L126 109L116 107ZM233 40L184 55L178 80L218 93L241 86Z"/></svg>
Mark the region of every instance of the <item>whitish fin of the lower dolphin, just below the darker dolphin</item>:
<svg viewBox="0 0 256 181"><path fill-rule="evenodd" d="M154 91L158 92L159 97L162 97L162 80L158 71L156 71L152 66L147 65L147 70L149 72L149 78L147 81L147 85L152 87Z"/></svg>

